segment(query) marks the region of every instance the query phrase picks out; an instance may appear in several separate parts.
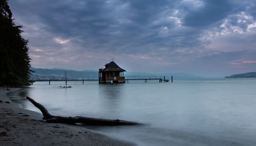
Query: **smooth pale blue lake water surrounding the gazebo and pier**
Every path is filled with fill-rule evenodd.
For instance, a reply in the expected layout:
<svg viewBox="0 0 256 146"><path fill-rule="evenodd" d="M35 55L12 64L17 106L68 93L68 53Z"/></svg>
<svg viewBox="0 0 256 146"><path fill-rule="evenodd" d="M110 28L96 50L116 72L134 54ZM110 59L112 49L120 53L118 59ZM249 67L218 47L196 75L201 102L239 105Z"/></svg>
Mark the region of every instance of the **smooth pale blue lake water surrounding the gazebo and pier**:
<svg viewBox="0 0 256 146"><path fill-rule="evenodd" d="M138 145L256 145L256 80L219 79L97 84L36 82L9 93L38 111L30 96L50 113L137 121L143 126L86 127ZM15 98L18 94L21 98Z"/></svg>

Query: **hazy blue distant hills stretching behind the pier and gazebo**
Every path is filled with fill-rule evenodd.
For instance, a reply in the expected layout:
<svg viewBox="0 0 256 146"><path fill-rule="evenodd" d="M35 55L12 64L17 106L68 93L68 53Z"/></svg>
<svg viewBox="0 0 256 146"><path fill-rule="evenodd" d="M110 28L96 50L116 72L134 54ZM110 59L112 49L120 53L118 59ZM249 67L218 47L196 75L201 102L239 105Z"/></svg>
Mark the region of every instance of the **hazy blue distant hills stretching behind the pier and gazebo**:
<svg viewBox="0 0 256 146"><path fill-rule="evenodd" d="M31 70L35 72L32 74L32 79L37 78L58 78L65 77L65 71L67 72L67 77L98 77L98 71L96 70L70 70L70 69L60 69L60 68L35 68L31 67ZM185 73L166 73L166 74L150 74L146 72L124 72L125 77L129 76L165 76L166 79L170 79L171 76L175 80L197 80L197 79L205 79L203 77L198 77Z"/></svg>

